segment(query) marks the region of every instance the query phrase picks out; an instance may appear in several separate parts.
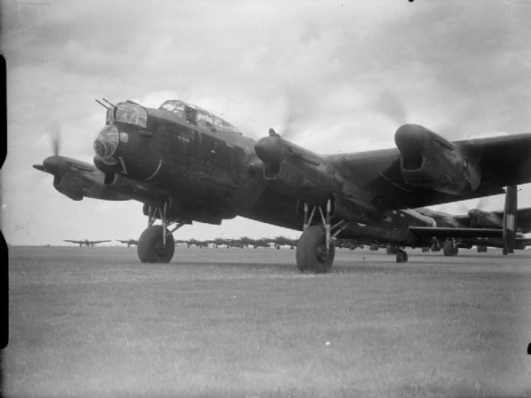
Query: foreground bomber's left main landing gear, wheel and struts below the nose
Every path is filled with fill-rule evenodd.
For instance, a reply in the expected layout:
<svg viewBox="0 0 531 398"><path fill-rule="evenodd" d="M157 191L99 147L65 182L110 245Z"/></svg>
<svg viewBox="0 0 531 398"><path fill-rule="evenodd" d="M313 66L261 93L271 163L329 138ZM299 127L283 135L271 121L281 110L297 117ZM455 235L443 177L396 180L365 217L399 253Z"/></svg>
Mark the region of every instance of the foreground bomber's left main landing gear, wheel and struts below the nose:
<svg viewBox="0 0 531 398"><path fill-rule="evenodd" d="M175 253L175 240L171 235L185 223L176 223L173 229L169 229L174 222L168 219L170 212L169 201L162 205L146 207L147 228L138 238L137 253L142 262L170 262ZM155 220L162 220L162 225L153 225Z"/></svg>

